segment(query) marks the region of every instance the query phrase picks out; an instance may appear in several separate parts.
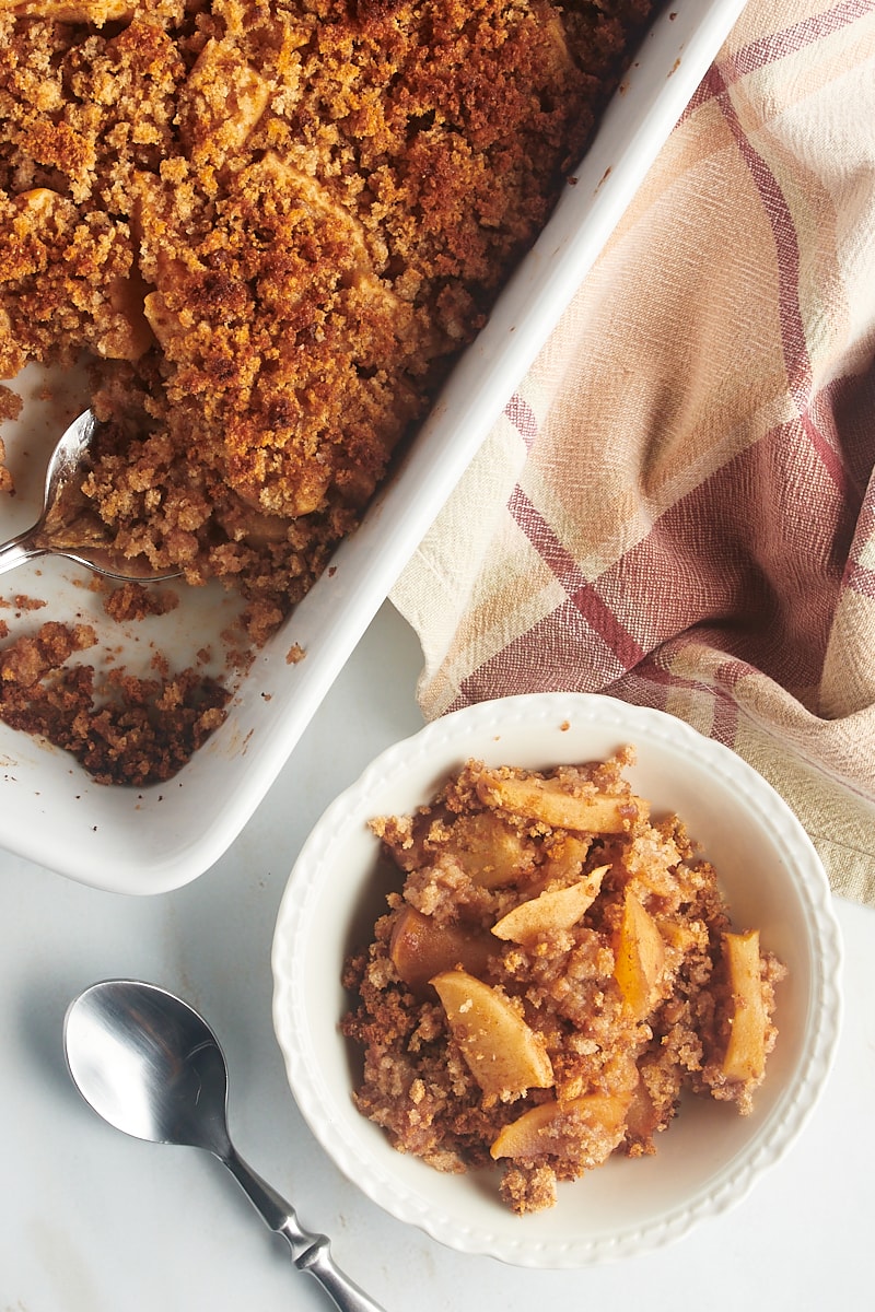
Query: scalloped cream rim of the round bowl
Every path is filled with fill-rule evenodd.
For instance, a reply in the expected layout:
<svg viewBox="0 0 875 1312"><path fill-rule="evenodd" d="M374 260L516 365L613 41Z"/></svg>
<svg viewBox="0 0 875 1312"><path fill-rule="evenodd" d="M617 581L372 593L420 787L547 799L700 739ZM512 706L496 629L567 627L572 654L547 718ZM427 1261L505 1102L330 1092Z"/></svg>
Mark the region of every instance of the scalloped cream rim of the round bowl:
<svg viewBox="0 0 875 1312"><path fill-rule="evenodd" d="M788 854L786 865L791 870L791 882L799 893L812 941L807 1042L798 1077L782 1090L750 1143L694 1190L683 1206L666 1211L656 1220L610 1235L580 1236L573 1241L538 1240L521 1231L514 1239L441 1214L407 1183L394 1178L388 1168L383 1169L384 1161L391 1161L391 1157L380 1152L380 1160L374 1162L361 1143L353 1141L345 1127L332 1118L332 1090L323 1081L308 1048L303 989L294 977L299 967L293 964L290 968L289 963L303 960L308 911L319 893L320 875L329 865L332 851L344 840L348 825L354 823L362 807L367 810L366 799L378 786L401 781L412 760L432 756L437 768L450 756L454 764L458 762L466 754L466 737L493 729L493 737L499 740L499 723L508 729L550 719L556 727L571 716L575 718L575 728L582 723L600 731L615 729L626 741L641 745L670 739L673 747L706 764L723 782L741 791L745 803L763 821L767 807L767 824ZM451 768L446 765L447 771ZM426 800L424 796L422 802ZM491 1256L517 1266L582 1267L681 1239L699 1221L741 1202L760 1176L786 1156L807 1124L833 1067L842 1019L841 960L841 933L832 907L832 891L813 844L783 798L732 749L704 737L665 711L602 694L519 694L463 707L392 744L327 807L299 851L279 904L272 947L273 1022L290 1089L304 1120L341 1173L358 1185L371 1202L460 1252ZM362 1139L370 1131L379 1136L383 1134L369 1126L365 1118L362 1127ZM388 1148L388 1152L394 1149ZM514 1220L519 1224L519 1219Z"/></svg>

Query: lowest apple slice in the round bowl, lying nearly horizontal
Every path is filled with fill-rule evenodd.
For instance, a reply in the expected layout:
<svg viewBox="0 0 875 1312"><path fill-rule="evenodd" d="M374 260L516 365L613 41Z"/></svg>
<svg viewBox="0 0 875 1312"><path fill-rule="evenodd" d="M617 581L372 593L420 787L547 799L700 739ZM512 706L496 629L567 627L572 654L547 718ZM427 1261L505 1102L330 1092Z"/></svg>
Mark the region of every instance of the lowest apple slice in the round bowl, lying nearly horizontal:
<svg viewBox="0 0 875 1312"><path fill-rule="evenodd" d="M623 1138L628 1105L630 1096L603 1093L589 1093L568 1102L542 1102L505 1126L489 1155L496 1160L522 1157L527 1161L577 1157L585 1145L603 1161Z"/></svg>

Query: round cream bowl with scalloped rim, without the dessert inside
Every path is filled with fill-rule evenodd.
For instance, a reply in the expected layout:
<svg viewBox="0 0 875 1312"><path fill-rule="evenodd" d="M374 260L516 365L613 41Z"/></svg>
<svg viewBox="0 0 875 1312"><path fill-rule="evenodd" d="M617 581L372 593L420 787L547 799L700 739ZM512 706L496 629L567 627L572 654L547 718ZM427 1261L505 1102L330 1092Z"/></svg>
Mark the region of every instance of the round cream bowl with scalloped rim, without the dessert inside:
<svg viewBox="0 0 875 1312"><path fill-rule="evenodd" d="M559 1186L554 1208L512 1215L497 1172L441 1174L395 1152L352 1102L357 1054L338 1033L348 950L384 909L373 816L428 802L470 757L546 769L632 744L634 787L676 811L718 869L740 928L788 967L778 1044L754 1110L685 1099L645 1158L611 1158ZM518 1266L581 1267L680 1239L723 1212L787 1152L828 1078L841 1025L841 939L817 854L786 803L729 749L661 711L546 693L454 712L383 752L316 824L291 872L273 945L274 1029L314 1135L369 1198L433 1239Z"/></svg>

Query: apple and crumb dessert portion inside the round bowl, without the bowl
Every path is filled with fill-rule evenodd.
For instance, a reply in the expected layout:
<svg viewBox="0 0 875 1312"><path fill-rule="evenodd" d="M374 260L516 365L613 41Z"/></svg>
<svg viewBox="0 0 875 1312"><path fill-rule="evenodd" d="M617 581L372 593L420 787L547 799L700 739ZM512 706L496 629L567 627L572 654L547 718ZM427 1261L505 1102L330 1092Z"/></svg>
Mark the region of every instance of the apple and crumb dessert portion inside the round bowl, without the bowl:
<svg viewBox="0 0 875 1312"><path fill-rule="evenodd" d="M499 1161L516 1212L614 1152L655 1152L685 1089L750 1111L784 967L731 929L677 816L626 749L546 774L468 761L373 823L403 892L344 984L358 1109L438 1170Z"/></svg>

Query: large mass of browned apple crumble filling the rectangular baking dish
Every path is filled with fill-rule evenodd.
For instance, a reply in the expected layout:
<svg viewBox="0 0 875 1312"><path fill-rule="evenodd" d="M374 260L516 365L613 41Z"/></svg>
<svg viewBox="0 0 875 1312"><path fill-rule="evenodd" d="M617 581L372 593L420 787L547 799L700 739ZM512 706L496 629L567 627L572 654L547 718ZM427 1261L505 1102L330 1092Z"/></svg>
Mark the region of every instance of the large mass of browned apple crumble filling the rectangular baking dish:
<svg viewBox="0 0 875 1312"><path fill-rule="evenodd" d="M89 362L81 492L115 551L237 588L254 646L277 630L652 8L0 0L0 378ZM17 405L0 390L0 417Z"/></svg>

